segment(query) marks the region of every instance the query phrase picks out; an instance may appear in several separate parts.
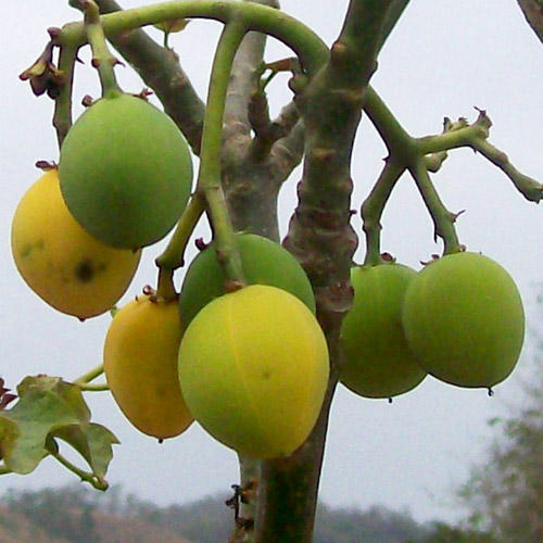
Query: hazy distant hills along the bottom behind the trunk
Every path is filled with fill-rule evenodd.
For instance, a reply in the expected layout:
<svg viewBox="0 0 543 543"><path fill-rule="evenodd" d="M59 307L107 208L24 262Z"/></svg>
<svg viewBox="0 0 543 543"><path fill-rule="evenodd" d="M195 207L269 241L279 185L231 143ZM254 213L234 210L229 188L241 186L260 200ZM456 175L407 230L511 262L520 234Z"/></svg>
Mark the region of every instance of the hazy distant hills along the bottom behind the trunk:
<svg viewBox="0 0 543 543"><path fill-rule="evenodd" d="M10 491L0 506L0 543L220 543L228 541L232 513L225 497L160 507L125 494L84 485ZM426 541L431 526L384 507L367 510L318 507L315 543Z"/></svg>

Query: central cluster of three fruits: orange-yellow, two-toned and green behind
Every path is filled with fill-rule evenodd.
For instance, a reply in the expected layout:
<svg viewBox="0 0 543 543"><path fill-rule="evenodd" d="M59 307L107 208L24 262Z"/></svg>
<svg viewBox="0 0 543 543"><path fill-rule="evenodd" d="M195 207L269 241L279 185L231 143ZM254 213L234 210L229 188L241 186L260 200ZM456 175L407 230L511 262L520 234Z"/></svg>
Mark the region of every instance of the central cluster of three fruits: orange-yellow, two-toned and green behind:
<svg viewBox="0 0 543 543"><path fill-rule="evenodd" d="M144 433L177 435L194 418L242 454L286 456L318 417L328 348L300 264L260 236L237 241L250 285L225 291L211 244L189 267L178 302L140 296L115 314L105 375Z"/></svg>

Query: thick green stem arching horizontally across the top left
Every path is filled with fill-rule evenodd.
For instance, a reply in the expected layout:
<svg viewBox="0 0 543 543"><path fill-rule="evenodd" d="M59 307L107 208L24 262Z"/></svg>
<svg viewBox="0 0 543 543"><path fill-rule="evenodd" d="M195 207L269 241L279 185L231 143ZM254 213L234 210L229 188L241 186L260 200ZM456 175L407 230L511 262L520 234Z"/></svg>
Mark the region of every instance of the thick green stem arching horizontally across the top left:
<svg viewBox="0 0 543 543"><path fill-rule="evenodd" d="M243 23L247 30L268 34L290 47L310 74L320 68L328 58L325 42L300 21L267 5L253 2L224 2L218 0L177 0L102 15L105 34L118 35L142 26L173 18L211 18L228 23ZM86 42L80 23L64 26L60 43L79 46Z"/></svg>

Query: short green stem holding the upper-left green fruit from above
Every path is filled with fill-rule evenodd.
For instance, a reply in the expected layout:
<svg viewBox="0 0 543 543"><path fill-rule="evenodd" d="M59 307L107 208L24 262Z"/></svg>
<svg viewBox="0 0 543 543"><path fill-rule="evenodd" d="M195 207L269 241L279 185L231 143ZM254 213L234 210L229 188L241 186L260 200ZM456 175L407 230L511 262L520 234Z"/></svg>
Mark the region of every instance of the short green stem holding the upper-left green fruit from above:
<svg viewBox="0 0 543 543"><path fill-rule="evenodd" d="M92 65L100 76L102 96L116 96L122 92L113 70L118 61L108 48L100 10L93 0L85 0L81 4L85 10L85 30L92 49Z"/></svg>

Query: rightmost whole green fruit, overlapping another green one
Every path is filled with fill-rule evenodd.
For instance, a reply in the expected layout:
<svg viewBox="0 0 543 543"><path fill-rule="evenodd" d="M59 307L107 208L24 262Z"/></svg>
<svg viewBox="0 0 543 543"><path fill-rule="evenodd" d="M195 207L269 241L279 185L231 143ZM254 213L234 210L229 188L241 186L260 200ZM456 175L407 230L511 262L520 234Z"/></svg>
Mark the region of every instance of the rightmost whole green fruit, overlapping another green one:
<svg viewBox="0 0 543 543"><path fill-rule="evenodd" d="M403 324L422 367L459 387L503 381L525 337L515 282L502 266L477 253L449 254L428 264L407 288Z"/></svg>

